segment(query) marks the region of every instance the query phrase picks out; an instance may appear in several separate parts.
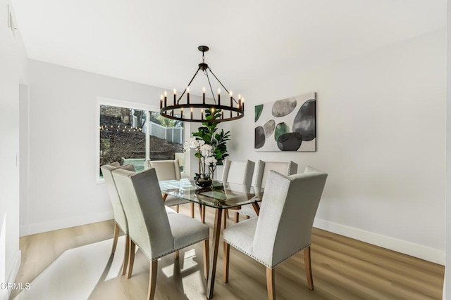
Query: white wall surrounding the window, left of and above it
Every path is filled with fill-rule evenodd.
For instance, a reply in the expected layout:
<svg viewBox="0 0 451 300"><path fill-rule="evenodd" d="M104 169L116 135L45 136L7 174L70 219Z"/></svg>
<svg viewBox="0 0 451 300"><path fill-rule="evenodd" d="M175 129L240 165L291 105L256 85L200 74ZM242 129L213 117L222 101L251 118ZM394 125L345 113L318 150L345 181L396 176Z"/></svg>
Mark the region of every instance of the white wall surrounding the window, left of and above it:
<svg viewBox="0 0 451 300"><path fill-rule="evenodd" d="M159 106L162 90L37 60L28 72L30 188L20 235L111 219L95 180L97 97Z"/></svg>

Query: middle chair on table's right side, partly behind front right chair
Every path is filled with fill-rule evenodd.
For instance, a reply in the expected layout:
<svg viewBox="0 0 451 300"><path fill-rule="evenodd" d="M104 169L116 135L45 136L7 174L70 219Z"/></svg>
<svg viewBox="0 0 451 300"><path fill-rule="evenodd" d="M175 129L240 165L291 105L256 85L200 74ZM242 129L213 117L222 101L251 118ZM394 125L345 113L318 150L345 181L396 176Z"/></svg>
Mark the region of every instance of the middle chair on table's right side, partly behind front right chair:
<svg viewBox="0 0 451 300"><path fill-rule="evenodd" d="M269 171L277 171L280 174L289 176L292 174L297 173L297 164L295 162L264 162L263 160L259 160L257 162L257 170L255 172L255 181L254 181L254 190L257 193L257 197L260 197L261 200L261 193L258 193L257 191L262 192L264 190L264 187L266 185L266 179L268 178ZM252 205L245 205L244 207L241 207L241 209L234 210L236 212L235 214L235 223L238 223L240 219L240 214L244 214L247 216L247 219L249 217L255 217L257 214L255 213L254 207Z"/></svg>

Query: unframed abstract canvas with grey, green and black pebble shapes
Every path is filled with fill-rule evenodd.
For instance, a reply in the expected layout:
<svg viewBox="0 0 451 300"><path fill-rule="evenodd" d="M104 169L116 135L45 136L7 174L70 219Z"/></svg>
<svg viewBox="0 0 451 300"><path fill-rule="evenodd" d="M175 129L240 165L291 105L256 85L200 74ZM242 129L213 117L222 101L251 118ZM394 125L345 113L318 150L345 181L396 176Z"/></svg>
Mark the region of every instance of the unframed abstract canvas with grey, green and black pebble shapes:
<svg viewBox="0 0 451 300"><path fill-rule="evenodd" d="M255 106L256 151L316 151L316 93Z"/></svg>

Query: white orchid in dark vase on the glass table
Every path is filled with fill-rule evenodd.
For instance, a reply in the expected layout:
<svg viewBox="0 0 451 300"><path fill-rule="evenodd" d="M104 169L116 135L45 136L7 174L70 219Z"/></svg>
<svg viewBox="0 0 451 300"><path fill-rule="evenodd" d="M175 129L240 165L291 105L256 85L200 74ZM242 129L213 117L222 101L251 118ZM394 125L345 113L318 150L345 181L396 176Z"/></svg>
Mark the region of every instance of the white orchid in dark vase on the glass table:
<svg viewBox="0 0 451 300"><path fill-rule="evenodd" d="M190 149L197 150L195 156L199 159L199 173L194 173L194 180L209 180L213 176L218 163L213 146L206 144L204 140L197 140L192 137L184 143L183 149L185 151L190 151Z"/></svg>

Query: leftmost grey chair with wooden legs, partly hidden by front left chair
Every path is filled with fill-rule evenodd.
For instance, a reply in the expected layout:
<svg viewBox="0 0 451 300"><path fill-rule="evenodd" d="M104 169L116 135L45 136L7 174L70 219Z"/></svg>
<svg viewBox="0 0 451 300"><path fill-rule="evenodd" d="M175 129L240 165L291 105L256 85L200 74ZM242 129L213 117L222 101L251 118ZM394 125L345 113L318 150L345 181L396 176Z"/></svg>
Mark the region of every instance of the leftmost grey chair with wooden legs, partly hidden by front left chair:
<svg viewBox="0 0 451 300"><path fill-rule="evenodd" d="M116 245L118 244L119 233L122 230L125 234L125 252L124 252L124 261L123 261L123 270L122 275L125 275L127 271L127 263L128 263L128 247L129 247L129 237L128 237L128 223L127 218L125 217L124 209L122 206L121 198L119 197L118 190L116 188L116 183L114 183L113 175L111 171L123 168L128 169L129 171L135 171L135 168L131 164L125 164L120 166L118 162L113 162L111 164L105 164L101 166L101 173L104 175L106 190L108 191L108 195L110 197L111 206L113 207L113 216L114 216L114 237L113 237L113 247L111 248L111 254L116 252Z"/></svg>

